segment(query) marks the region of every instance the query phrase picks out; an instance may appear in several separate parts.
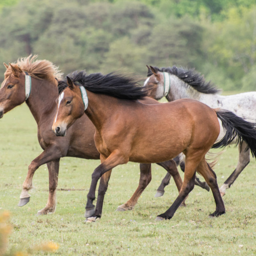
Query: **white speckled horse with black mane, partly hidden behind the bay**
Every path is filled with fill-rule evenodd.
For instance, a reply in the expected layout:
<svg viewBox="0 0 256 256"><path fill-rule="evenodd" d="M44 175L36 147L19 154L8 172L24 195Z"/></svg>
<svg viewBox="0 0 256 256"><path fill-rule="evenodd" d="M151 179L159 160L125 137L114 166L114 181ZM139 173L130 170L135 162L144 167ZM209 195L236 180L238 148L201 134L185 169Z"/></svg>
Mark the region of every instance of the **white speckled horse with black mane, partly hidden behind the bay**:
<svg viewBox="0 0 256 256"><path fill-rule="evenodd" d="M256 122L256 92L223 96L219 94L221 90L211 82L206 82L204 77L194 69L184 69L176 66L168 68L147 67L148 78L144 82L144 88L148 91L148 96L156 100L160 100L165 96L168 102L181 98L191 98L199 100L211 108L226 109L249 122ZM221 134L224 134L222 126L221 130ZM236 143L236 140L233 140L232 143ZM226 189L230 188L250 162L250 151L247 150L246 142L239 142L238 150L238 164L220 187L222 196L226 194ZM168 184L169 175L166 176L158 190L163 190L163 183Z"/></svg>

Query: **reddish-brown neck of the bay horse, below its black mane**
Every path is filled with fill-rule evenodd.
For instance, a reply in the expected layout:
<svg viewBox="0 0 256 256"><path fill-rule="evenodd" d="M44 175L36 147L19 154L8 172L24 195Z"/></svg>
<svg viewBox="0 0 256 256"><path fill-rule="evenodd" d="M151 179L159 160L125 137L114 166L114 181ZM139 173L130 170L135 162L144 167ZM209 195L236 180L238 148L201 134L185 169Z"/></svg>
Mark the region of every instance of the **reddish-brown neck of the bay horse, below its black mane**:
<svg viewBox="0 0 256 256"><path fill-rule="evenodd" d="M98 132L100 132L115 109L122 103L117 98L108 95L96 94L88 90L86 90L86 93L88 96L88 107L85 113Z"/></svg>

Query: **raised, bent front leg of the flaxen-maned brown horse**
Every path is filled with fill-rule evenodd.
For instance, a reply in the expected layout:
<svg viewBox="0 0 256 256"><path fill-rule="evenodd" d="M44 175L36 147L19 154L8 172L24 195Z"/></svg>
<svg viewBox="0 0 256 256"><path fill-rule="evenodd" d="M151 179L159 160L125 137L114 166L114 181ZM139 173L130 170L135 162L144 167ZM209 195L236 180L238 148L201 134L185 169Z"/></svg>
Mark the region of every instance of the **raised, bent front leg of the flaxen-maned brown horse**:
<svg viewBox="0 0 256 256"><path fill-rule="evenodd" d="M28 191L32 188L32 178L34 176L35 171L42 165L50 162L52 160L56 160L65 154L61 152L59 148L56 146L48 146L38 157L36 157L31 164L28 166L28 174L26 179L22 184L22 192L20 194L20 202L18 206L24 206L30 200L30 194Z"/></svg>

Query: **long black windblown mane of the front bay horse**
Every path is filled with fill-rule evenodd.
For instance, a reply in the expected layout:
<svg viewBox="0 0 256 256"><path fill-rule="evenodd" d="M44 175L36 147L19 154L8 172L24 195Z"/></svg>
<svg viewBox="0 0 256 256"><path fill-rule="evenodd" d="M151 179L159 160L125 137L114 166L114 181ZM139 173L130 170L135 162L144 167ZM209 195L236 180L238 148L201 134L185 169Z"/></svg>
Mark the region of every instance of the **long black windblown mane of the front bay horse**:
<svg viewBox="0 0 256 256"><path fill-rule="evenodd" d="M114 72L106 75L93 73L86 76L86 72L83 70L80 72L74 71L68 77L74 84L84 86L86 90L96 94L105 94L126 100L141 100L147 96L147 91L143 90L143 87L134 78ZM59 94L67 86L66 79L59 81Z"/></svg>

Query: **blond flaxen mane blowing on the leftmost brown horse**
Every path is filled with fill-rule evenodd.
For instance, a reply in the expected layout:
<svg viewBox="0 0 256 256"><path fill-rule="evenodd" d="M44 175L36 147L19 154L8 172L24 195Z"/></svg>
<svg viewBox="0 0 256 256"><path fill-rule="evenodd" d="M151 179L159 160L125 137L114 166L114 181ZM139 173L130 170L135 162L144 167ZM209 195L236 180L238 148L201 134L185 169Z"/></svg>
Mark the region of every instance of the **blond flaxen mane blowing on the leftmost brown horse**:
<svg viewBox="0 0 256 256"><path fill-rule="evenodd" d="M58 67L52 64L48 60L36 60L38 55L30 54L28 57L19 58L16 63L11 63L12 66L20 69L36 79L48 80L50 82L56 82L56 79L62 79L62 72L58 70ZM10 66L6 69L4 76L12 75L12 69ZM55 79L56 78L56 79Z"/></svg>

